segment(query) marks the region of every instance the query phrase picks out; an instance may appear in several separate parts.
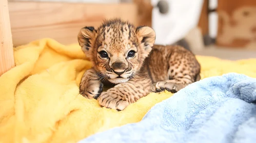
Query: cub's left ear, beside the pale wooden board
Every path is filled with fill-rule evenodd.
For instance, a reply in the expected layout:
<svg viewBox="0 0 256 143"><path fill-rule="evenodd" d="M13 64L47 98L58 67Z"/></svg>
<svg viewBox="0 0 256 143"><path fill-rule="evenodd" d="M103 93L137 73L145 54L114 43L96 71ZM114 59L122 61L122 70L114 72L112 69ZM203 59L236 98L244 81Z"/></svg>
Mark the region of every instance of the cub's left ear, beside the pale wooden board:
<svg viewBox="0 0 256 143"><path fill-rule="evenodd" d="M84 27L78 33L78 43L82 47L82 51L87 53L91 50L91 44L96 37L96 30L94 27Z"/></svg>

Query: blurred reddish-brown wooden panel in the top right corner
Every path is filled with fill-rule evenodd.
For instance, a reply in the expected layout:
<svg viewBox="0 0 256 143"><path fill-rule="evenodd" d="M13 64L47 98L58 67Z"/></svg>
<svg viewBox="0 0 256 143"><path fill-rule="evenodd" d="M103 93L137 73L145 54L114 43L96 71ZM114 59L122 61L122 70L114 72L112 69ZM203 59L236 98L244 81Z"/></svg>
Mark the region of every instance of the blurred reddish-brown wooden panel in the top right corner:
<svg viewBox="0 0 256 143"><path fill-rule="evenodd" d="M256 1L218 1L216 44L231 49L256 50Z"/></svg>

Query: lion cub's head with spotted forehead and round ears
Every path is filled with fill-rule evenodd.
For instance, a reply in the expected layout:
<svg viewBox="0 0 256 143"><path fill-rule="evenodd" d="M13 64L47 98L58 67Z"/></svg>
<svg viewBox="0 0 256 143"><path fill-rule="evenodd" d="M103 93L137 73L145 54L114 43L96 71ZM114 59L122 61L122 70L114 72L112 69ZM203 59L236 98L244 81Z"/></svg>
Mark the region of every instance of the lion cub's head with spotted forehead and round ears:
<svg viewBox="0 0 256 143"><path fill-rule="evenodd" d="M97 74L115 84L127 82L137 74L154 41L151 28L135 28L121 19L106 20L97 29L82 28L78 34L78 42Z"/></svg>

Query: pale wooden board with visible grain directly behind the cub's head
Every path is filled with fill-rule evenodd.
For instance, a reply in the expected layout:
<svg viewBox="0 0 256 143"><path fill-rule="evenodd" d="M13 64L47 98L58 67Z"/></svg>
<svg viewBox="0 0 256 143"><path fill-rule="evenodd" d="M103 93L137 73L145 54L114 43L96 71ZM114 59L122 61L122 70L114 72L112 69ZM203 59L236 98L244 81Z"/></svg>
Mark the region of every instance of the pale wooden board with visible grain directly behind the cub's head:
<svg viewBox="0 0 256 143"><path fill-rule="evenodd" d="M9 2L9 13L14 46L41 38L76 43L81 28L97 27L105 18L121 17L137 25L135 4Z"/></svg>

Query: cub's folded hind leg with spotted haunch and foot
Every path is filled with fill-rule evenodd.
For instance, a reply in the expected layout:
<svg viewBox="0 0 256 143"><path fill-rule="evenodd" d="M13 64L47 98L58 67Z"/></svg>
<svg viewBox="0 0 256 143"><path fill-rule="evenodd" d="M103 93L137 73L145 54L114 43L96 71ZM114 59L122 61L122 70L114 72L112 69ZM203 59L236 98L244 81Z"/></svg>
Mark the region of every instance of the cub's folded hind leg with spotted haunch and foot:
<svg viewBox="0 0 256 143"><path fill-rule="evenodd" d="M175 93L201 79L199 62L191 52L183 47L174 47L172 55L167 60L169 79L153 84L153 91L161 92L168 90Z"/></svg>

